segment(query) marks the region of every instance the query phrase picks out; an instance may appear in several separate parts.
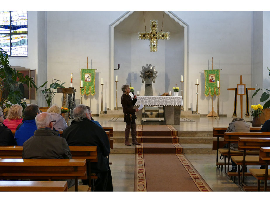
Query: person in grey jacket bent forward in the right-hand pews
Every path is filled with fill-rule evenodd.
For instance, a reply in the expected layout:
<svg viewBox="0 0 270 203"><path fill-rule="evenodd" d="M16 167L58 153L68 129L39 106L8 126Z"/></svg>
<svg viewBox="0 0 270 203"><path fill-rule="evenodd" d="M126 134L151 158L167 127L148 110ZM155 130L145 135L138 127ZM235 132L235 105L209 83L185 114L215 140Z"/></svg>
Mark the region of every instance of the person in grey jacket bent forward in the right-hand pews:
<svg viewBox="0 0 270 203"><path fill-rule="evenodd" d="M226 130L226 132L250 132L250 126L249 124L243 119L243 118L233 118L232 122L229 123L229 126ZM231 144L231 150L234 151L240 151L238 150L238 143ZM230 172L236 172L237 171L237 165L236 163L231 160L232 170ZM247 172L248 169L245 166L245 172ZM242 169L240 170L242 172Z"/></svg>

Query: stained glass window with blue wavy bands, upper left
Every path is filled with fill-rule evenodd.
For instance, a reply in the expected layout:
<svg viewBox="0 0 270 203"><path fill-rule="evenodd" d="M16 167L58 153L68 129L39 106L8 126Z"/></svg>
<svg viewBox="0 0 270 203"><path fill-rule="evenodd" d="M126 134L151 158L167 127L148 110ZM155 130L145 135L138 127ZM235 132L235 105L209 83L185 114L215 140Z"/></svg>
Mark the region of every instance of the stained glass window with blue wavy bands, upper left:
<svg viewBox="0 0 270 203"><path fill-rule="evenodd" d="M27 11L0 11L0 47L8 56L27 57Z"/></svg>

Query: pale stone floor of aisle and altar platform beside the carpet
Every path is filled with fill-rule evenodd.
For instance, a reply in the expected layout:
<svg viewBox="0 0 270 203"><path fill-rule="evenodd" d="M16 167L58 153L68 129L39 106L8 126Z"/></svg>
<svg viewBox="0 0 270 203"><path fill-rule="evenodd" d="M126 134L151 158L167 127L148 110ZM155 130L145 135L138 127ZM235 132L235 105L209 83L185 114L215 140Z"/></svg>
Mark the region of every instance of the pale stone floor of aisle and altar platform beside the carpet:
<svg viewBox="0 0 270 203"><path fill-rule="evenodd" d="M94 116L93 118L97 120L101 126L113 126L114 131L124 131L125 129L125 122L108 122L110 118L104 117L100 118ZM227 127L232 118L221 117L220 120L216 120L214 117L201 117L191 120L195 122L180 122L180 125L174 125L174 127L178 131L212 131L213 127ZM248 122L248 124L251 126L251 122ZM185 154L185 156L213 191L242 191L224 174L224 170L221 172L221 170L216 167L215 154ZM110 161L113 162L110 168L113 177L114 191L133 191L135 154L110 154ZM250 176L247 178L247 183L257 185L256 179Z"/></svg>

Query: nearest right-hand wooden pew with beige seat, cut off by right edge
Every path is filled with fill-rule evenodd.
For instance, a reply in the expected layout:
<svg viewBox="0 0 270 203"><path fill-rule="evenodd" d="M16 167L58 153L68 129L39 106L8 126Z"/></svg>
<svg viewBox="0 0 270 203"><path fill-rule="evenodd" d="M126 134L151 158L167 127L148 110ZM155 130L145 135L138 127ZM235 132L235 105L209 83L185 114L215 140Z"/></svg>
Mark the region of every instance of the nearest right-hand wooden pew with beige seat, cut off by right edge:
<svg viewBox="0 0 270 203"><path fill-rule="evenodd" d="M270 147L260 147L259 162L265 164L265 169L250 168L250 173L258 180L257 190L260 191L260 180L264 180L264 191L267 190L267 180L270 180L268 170L270 161ZM268 190L269 191L269 190Z"/></svg>

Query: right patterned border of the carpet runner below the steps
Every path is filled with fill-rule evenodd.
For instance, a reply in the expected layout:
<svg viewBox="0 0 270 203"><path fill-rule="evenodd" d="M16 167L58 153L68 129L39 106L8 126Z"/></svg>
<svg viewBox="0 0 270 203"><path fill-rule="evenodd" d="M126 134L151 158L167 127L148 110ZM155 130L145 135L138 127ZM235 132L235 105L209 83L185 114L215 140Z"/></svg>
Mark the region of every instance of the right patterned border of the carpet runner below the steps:
<svg viewBox="0 0 270 203"><path fill-rule="evenodd" d="M190 175L190 177L192 178L193 182L198 187L198 189L200 190L200 192L210 192L210 191L212 192L213 191L213 190L211 190L211 188L209 187L209 185L207 185L207 183L205 182L205 180L203 180L203 178L198 173L198 171L195 170L194 166L192 166L192 164L184 156L184 154L176 154L176 156L181 161L181 163L183 164L184 168L186 169L186 171L188 172L188 174Z"/></svg>

